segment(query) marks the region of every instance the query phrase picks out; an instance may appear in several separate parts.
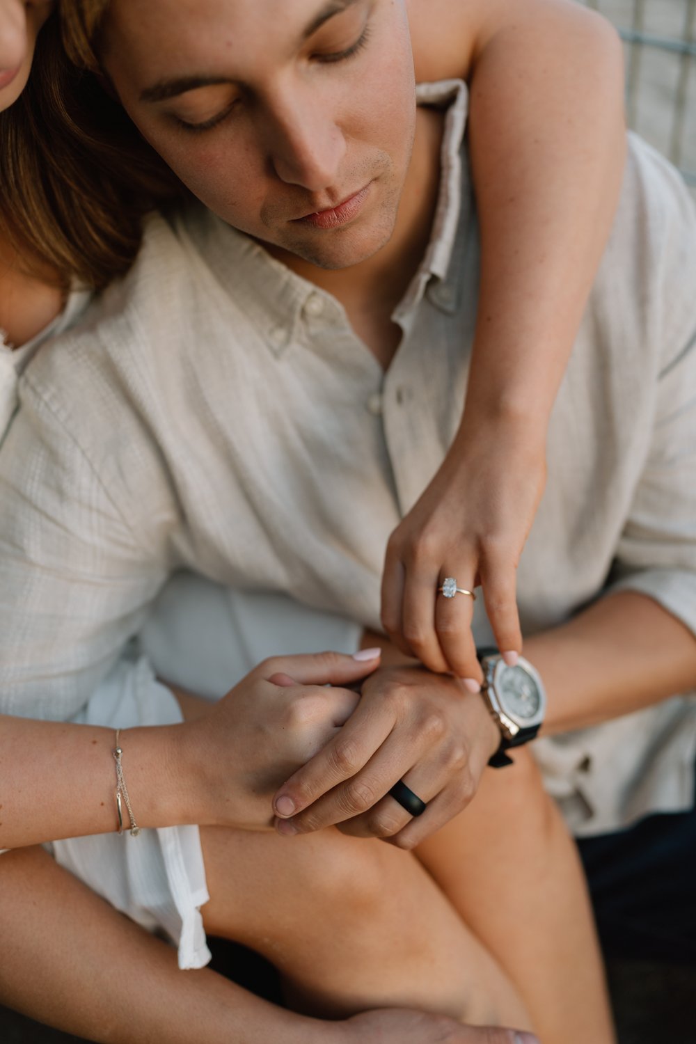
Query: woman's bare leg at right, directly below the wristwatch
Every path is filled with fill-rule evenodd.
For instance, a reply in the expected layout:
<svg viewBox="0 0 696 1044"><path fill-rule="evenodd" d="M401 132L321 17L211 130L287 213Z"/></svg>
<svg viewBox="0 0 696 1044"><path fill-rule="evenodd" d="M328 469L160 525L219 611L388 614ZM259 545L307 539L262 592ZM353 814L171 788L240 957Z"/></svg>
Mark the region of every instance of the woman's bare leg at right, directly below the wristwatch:
<svg viewBox="0 0 696 1044"><path fill-rule="evenodd" d="M604 1044L611 1019L584 876L528 751L417 851L515 983L544 1044Z"/></svg>

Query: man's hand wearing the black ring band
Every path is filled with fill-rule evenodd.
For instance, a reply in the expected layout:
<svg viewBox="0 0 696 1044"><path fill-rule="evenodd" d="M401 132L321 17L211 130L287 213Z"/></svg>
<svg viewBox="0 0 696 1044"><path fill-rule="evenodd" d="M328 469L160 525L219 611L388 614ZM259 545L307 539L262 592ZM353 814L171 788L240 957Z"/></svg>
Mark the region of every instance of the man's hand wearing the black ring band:
<svg viewBox="0 0 696 1044"><path fill-rule="evenodd" d="M277 829L340 824L413 848L469 804L499 744L480 695L421 667L385 668L364 682L343 728L278 791ZM389 794L399 780L428 805L417 818Z"/></svg>

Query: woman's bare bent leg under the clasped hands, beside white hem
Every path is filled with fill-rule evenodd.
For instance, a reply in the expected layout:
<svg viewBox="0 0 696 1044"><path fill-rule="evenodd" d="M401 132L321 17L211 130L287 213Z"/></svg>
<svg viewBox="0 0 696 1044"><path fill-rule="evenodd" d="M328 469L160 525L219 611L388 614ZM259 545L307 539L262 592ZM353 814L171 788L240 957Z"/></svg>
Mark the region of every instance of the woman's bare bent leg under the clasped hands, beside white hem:
<svg viewBox="0 0 696 1044"><path fill-rule="evenodd" d="M411 1006L528 1028L514 989L410 853L336 829L298 837L201 830L207 931L281 971L325 1017Z"/></svg>

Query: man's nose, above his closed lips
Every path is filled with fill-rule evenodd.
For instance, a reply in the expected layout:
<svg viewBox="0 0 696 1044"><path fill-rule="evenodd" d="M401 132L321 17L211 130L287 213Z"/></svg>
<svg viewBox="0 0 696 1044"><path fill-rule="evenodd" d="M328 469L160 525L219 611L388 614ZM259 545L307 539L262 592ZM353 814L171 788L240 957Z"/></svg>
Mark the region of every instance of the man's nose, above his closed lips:
<svg viewBox="0 0 696 1044"><path fill-rule="evenodd" d="M335 185L345 139L331 109L307 88L285 92L269 106L266 149L275 174L288 185L318 192Z"/></svg>

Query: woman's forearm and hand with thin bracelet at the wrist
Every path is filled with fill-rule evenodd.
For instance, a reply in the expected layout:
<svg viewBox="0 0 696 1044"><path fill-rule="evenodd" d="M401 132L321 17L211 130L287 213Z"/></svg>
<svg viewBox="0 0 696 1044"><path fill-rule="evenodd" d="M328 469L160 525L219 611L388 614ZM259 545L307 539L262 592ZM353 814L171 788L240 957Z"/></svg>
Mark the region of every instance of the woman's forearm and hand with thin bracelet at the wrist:
<svg viewBox="0 0 696 1044"><path fill-rule="evenodd" d="M267 660L196 721L122 730L137 825L269 829L275 787L355 709L358 696L341 686L378 664L338 652ZM116 830L115 738L114 729L0 716L0 849ZM124 799L122 820L127 830Z"/></svg>

